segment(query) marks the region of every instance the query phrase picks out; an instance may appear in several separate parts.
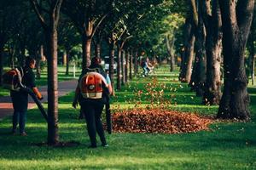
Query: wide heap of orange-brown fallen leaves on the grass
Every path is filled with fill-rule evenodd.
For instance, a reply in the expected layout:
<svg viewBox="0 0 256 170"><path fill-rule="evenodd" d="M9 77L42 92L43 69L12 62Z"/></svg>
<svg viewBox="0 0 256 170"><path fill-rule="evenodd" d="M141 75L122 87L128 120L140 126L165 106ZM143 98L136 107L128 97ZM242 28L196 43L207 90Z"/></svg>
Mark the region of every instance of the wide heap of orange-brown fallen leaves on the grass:
<svg viewBox="0 0 256 170"><path fill-rule="evenodd" d="M208 130L213 118L165 110L131 110L113 113L115 133L194 133Z"/></svg>

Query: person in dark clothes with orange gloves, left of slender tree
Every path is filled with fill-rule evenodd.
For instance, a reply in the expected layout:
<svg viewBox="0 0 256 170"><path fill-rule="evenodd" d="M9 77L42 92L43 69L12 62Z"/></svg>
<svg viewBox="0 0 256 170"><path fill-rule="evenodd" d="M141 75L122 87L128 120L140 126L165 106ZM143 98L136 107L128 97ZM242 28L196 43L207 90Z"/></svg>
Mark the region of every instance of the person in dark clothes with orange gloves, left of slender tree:
<svg viewBox="0 0 256 170"><path fill-rule="evenodd" d="M24 72L24 76L22 77L22 84L26 86L26 88L31 88L32 91L37 95L38 99L43 99L42 94L38 91L35 82L35 75L33 73L33 69L35 68L36 60L31 57L26 58L26 63L24 67L19 68ZM14 106L14 115L13 115L13 129L12 133L16 133L17 125L19 123L20 127L20 135L26 136L25 125L26 125L26 112L28 105L28 94L23 91L10 91L10 96Z"/></svg>

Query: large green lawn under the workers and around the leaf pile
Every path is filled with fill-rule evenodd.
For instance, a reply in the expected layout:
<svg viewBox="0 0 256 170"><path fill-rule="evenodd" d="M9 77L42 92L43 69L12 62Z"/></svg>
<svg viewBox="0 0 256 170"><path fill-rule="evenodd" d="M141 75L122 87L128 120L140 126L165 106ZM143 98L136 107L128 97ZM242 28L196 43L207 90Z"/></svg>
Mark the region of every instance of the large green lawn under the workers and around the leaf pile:
<svg viewBox="0 0 256 170"><path fill-rule="evenodd" d="M201 98L189 92L185 84L181 88L179 82L166 80L165 77L170 77L167 68L159 73L160 82L177 88L176 92L165 89L166 96L176 94L173 99L177 105L171 105L172 109L216 114L217 106L201 105ZM132 91L135 85L143 89L145 82L152 82L152 79L135 78L130 86L122 88L112 99L112 108L132 108L136 102ZM11 119L7 117L0 122L0 169L256 169L256 88L249 87L248 91L251 94L251 122L215 123L210 131L198 133L107 134L109 148L95 150L87 149L90 141L85 123L78 120L79 109L71 107L71 93L60 99L60 139L80 144L65 148L37 146L47 139L47 125L36 109L28 112L27 137L7 134L11 127ZM143 100L143 105L148 104Z"/></svg>

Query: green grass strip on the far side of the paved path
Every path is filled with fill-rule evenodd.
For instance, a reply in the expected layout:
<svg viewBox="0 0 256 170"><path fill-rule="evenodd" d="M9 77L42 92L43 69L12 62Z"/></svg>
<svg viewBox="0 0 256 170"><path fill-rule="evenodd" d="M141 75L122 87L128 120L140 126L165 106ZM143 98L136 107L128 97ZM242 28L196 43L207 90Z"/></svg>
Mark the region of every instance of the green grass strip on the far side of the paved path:
<svg viewBox="0 0 256 170"><path fill-rule="evenodd" d="M9 70L10 70L9 67L4 67L4 71L9 71ZM76 71L76 78L78 78L80 72L81 72L80 69L78 69ZM66 67L59 65L58 66L58 81L59 82L73 79L72 68L70 68L69 75L66 75L65 73L66 73ZM47 69L46 68L44 69L44 71L42 71L41 78L36 79L36 84L37 84L37 86L47 85ZM9 96L9 90L0 87L0 96Z"/></svg>

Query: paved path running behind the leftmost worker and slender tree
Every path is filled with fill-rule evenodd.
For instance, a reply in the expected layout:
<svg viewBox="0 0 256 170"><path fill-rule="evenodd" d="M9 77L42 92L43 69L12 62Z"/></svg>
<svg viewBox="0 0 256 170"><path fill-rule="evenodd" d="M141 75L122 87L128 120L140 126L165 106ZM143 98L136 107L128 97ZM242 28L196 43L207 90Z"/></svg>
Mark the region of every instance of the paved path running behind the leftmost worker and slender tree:
<svg viewBox="0 0 256 170"><path fill-rule="evenodd" d="M74 91L74 89L77 86L78 81L77 80L70 80L65 82L59 82L58 83L58 90L59 94L58 96L63 96L66 94L69 94L70 92ZM42 86L38 88L41 94L44 96L43 103L47 103L47 86ZM30 97L28 102L28 109L32 109L36 106L36 104L33 102L32 98ZM11 116L13 114L13 104L12 100L9 96L0 97L0 121L5 116Z"/></svg>

